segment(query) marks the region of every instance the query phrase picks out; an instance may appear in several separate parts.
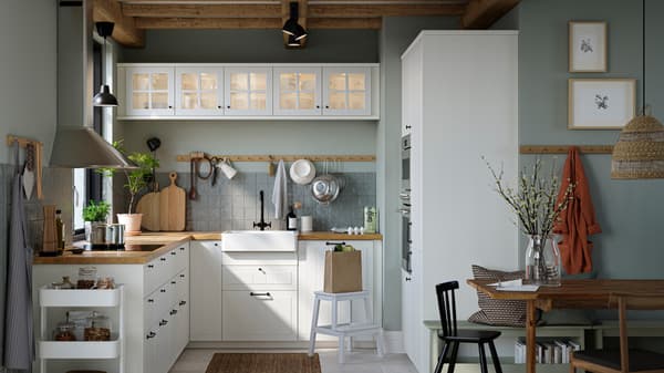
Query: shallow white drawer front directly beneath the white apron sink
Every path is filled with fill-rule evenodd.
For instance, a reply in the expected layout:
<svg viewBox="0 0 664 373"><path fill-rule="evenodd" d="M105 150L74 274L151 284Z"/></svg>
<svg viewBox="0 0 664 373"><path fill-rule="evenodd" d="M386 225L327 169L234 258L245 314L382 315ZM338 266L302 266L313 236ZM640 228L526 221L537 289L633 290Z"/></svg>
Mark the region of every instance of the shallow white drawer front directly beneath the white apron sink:
<svg viewBox="0 0 664 373"><path fill-rule="evenodd" d="M297 290L298 266L224 266L224 290Z"/></svg>

